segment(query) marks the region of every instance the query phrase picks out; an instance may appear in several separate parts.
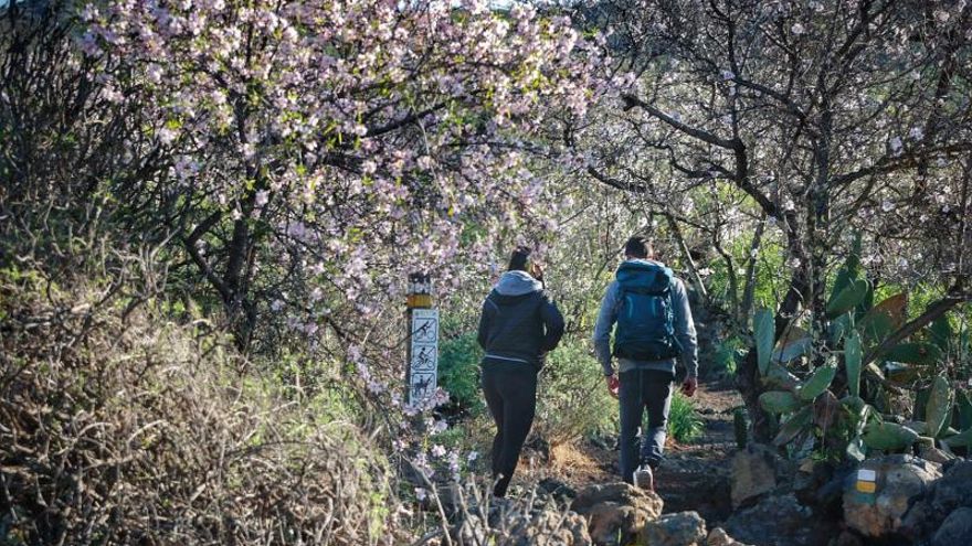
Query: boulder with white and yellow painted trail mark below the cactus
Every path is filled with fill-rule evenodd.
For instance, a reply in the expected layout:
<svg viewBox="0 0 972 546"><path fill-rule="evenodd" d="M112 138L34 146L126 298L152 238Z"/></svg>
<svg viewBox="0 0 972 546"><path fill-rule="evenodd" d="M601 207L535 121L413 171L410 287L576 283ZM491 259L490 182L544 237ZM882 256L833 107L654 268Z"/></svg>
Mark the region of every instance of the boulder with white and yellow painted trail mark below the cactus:
<svg viewBox="0 0 972 546"><path fill-rule="evenodd" d="M862 471L873 473L874 491L859 485ZM913 537L925 520L921 501L941 473L934 463L908 454L867 459L844 488L844 522L865 537ZM968 488L968 484L966 484ZM862 491L863 489L863 491ZM908 517L912 506L915 514ZM913 522L913 523L909 523Z"/></svg>

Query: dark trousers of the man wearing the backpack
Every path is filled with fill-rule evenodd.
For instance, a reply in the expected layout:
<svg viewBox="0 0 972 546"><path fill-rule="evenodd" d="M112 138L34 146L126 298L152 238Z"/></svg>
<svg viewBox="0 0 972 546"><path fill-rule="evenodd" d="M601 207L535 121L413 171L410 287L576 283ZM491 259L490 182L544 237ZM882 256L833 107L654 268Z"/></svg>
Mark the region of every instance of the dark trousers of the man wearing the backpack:
<svg viewBox="0 0 972 546"><path fill-rule="evenodd" d="M632 483L632 474L638 464L645 463L654 469L662 462L668 410L672 407L673 376L654 370L631 370L622 373L620 379L617 398L621 405L621 478ZM637 431L646 408L648 429L642 431L638 450Z"/></svg>

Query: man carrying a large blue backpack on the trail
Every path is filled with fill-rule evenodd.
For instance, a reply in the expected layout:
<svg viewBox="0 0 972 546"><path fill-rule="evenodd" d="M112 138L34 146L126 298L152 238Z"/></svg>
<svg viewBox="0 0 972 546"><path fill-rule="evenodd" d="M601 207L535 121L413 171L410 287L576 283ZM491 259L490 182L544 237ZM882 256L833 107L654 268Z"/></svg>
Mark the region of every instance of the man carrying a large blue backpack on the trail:
<svg viewBox="0 0 972 546"><path fill-rule="evenodd" d="M672 269L651 259L651 242L633 236L624 245L621 264L601 301L594 326L594 351L611 394L621 406L620 461L622 479L654 490L654 470L662 461L668 410L675 382L675 361L682 358L686 396L698 386L698 347L685 285ZM614 351L609 344L614 328ZM612 364L617 358L617 370ZM648 429L637 429L644 410Z"/></svg>

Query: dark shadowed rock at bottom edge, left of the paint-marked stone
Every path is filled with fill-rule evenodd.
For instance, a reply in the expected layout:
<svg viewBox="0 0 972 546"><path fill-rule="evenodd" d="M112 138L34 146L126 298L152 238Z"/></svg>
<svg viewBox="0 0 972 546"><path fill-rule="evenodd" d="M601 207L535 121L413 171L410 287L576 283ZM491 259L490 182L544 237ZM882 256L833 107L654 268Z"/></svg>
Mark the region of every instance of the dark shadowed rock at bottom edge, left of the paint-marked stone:
<svg viewBox="0 0 972 546"><path fill-rule="evenodd" d="M760 546L815 546L821 536L836 535L835 523L815 518L793 493L764 497L733 513L723 528L736 540ZM824 540L826 544L826 540Z"/></svg>

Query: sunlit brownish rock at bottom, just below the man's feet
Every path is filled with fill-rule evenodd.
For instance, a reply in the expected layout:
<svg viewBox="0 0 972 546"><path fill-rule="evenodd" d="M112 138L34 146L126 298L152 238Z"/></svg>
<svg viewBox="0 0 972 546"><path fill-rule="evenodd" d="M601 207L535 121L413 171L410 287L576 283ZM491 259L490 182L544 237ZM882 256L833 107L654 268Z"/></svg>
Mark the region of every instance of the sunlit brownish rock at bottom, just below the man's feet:
<svg viewBox="0 0 972 546"><path fill-rule="evenodd" d="M620 546L637 537L645 524L662 514L662 497L627 483L590 485L578 493L571 510L588 521L594 544Z"/></svg>

